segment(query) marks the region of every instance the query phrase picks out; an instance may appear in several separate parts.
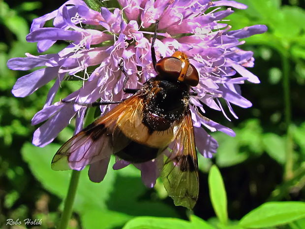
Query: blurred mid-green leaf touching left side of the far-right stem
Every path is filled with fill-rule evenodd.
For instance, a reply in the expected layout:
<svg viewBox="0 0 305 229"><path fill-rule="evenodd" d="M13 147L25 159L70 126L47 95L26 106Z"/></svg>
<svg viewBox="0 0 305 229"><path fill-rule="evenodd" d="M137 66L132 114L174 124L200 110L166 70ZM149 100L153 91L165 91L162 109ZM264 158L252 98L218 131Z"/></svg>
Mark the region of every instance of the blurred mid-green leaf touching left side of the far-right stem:
<svg viewBox="0 0 305 229"><path fill-rule="evenodd" d="M265 133L263 135L263 144L266 152L275 161L283 164L286 161L285 139L275 133Z"/></svg>

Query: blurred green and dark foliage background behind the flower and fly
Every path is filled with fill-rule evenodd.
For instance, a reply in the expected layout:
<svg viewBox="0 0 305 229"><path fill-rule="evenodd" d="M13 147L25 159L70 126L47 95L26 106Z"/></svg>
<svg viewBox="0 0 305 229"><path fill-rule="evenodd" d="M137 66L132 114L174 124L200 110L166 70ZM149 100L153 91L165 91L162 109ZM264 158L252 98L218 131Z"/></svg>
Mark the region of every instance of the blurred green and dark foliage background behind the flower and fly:
<svg viewBox="0 0 305 229"><path fill-rule="evenodd" d="M52 84L27 98L14 98L10 91L16 79L27 73L8 70L6 62L25 52L37 54L36 44L25 41L31 20L63 2L0 1L1 229L56 228L60 219L71 171L53 171L50 162L73 127L44 148L31 145L36 127L30 120ZM212 160L199 157L200 196L193 212L175 207L160 182L146 188L132 166L113 171L110 165L100 184L82 172L70 229L305 229L305 1L240 2L248 9L228 18L233 29L255 24L269 28L247 38L242 47L254 51L255 67L250 70L261 83L242 86L253 106L234 107L238 120L231 123L220 112L208 111L207 117L234 129L237 136L213 133L217 154ZM63 85L57 98L78 86ZM213 164L221 175L216 166L211 169ZM42 219L42 225L5 225L7 219L27 218Z"/></svg>

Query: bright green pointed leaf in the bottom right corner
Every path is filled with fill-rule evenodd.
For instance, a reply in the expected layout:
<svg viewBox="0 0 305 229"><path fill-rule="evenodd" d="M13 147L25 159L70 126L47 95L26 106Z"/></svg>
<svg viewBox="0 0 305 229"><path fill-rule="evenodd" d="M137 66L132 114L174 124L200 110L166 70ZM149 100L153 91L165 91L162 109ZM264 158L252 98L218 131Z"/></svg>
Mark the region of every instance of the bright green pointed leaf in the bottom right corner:
<svg viewBox="0 0 305 229"><path fill-rule="evenodd" d="M266 228L305 218L305 203L268 202L246 214L240 221L244 228Z"/></svg>

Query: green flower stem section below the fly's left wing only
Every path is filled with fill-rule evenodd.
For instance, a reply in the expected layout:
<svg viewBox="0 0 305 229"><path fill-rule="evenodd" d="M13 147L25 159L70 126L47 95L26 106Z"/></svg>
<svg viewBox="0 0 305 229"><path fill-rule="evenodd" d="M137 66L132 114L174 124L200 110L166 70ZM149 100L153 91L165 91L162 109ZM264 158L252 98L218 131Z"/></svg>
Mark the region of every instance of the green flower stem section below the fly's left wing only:
<svg viewBox="0 0 305 229"><path fill-rule="evenodd" d="M68 226L69 220L71 219L72 207L73 207L73 202L74 202L80 174L81 174L80 171L72 170L68 193L64 200L64 207L63 207L63 212L61 215L61 222L58 227L59 229L66 229Z"/></svg>

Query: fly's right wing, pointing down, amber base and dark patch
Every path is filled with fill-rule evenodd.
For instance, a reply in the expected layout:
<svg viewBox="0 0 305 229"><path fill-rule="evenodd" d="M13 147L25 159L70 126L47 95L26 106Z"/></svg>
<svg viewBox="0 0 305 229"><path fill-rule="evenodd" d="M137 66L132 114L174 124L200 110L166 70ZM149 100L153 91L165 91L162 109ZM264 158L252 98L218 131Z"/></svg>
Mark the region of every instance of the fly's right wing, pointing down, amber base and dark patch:
<svg viewBox="0 0 305 229"><path fill-rule="evenodd" d="M176 139L171 143L172 152L165 158L161 178L175 205L192 209L199 194L198 161L194 141L191 113L185 115Z"/></svg>

